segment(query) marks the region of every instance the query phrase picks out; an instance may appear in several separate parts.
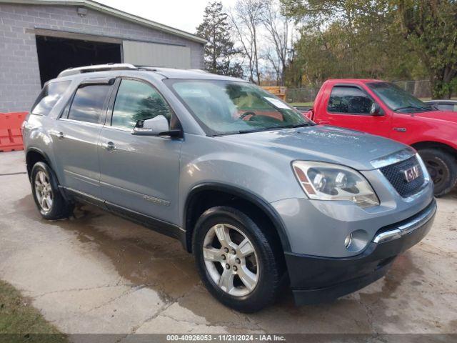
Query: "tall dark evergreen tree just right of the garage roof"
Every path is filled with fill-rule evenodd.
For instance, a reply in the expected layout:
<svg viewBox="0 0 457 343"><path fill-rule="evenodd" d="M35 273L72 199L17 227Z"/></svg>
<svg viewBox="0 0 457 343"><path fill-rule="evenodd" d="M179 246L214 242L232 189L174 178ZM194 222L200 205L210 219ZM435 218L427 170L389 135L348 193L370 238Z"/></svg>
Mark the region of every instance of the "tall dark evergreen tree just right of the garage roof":
<svg viewBox="0 0 457 343"><path fill-rule="evenodd" d="M239 51L234 48L227 14L220 1L208 4L204 20L197 27L196 34L208 41L204 48L205 69L214 74L241 77L243 69L233 61Z"/></svg>

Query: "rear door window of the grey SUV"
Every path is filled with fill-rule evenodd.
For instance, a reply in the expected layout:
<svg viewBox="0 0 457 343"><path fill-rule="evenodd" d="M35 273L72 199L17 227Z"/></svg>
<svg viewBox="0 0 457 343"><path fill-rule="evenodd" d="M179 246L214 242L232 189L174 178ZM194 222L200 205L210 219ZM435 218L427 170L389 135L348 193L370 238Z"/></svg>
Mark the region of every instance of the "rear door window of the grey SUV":
<svg viewBox="0 0 457 343"><path fill-rule="evenodd" d="M101 84L80 87L74 94L68 119L98 123L110 89L111 86Z"/></svg>

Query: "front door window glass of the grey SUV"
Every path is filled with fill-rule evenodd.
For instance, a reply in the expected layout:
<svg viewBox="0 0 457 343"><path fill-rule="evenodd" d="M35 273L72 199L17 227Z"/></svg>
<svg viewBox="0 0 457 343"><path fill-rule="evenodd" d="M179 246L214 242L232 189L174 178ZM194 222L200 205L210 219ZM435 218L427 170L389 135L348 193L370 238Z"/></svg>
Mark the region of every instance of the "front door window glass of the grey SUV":
<svg viewBox="0 0 457 343"><path fill-rule="evenodd" d="M133 129L136 121L165 116L170 122L171 109L156 89L141 81L123 79L114 102L111 126Z"/></svg>

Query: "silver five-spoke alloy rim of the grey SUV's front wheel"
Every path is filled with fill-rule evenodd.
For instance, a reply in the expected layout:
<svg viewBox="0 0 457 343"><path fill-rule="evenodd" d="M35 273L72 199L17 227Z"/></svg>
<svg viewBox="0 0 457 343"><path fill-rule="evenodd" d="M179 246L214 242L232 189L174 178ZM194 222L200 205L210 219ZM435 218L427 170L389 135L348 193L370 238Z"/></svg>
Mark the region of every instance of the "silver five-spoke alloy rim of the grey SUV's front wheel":
<svg viewBox="0 0 457 343"><path fill-rule="evenodd" d="M224 292L243 297L258 283L256 250L240 229L230 224L216 224L206 233L203 244L206 271Z"/></svg>

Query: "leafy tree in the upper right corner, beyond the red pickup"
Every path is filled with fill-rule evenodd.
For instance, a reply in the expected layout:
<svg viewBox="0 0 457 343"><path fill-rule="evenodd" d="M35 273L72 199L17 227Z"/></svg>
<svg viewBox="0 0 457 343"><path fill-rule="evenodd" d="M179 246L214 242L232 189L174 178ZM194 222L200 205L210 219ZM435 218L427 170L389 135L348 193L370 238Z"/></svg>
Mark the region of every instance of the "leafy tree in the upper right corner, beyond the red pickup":
<svg viewBox="0 0 457 343"><path fill-rule="evenodd" d="M457 89L457 1L396 0L401 31L426 66L433 98Z"/></svg>

